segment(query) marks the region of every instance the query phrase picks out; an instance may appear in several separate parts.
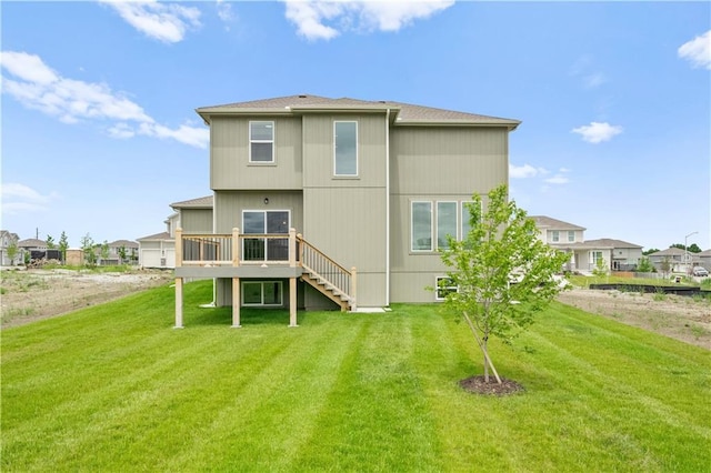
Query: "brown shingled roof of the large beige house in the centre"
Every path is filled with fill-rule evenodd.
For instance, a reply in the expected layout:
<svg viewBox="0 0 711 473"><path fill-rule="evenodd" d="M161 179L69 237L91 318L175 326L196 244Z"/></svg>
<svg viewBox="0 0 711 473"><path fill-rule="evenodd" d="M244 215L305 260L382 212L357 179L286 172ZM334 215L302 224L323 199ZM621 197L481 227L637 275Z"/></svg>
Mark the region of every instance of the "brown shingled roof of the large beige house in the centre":
<svg viewBox="0 0 711 473"><path fill-rule="evenodd" d="M519 120L488 117L475 113L458 112L411 103L387 100L358 100L343 97L300 94L277 97L273 99L251 100L248 102L228 103L223 105L202 107L196 111L207 124L217 114L302 114L313 112L391 112L393 124L440 124L440 125L499 125L514 130Z"/></svg>

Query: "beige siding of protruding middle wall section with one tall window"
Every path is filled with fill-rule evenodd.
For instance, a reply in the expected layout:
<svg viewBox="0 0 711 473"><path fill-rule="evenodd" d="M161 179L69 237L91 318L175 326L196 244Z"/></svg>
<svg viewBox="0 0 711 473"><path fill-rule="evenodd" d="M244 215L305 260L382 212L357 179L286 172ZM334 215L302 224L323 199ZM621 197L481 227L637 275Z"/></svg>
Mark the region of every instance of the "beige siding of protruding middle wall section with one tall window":
<svg viewBox="0 0 711 473"><path fill-rule="evenodd" d="M333 175L333 122L358 122L358 175ZM303 236L358 271L358 305L387 303L384 114L304 117Z"/></svg>

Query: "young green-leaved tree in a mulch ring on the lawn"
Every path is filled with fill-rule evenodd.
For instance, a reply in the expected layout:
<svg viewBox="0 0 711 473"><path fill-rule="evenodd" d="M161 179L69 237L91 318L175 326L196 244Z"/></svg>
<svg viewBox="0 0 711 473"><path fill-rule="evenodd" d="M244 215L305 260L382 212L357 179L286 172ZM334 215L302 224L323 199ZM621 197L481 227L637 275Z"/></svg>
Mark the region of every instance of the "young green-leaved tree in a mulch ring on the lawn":
<svg viewBox="0 0 711 473"><path fill-rule="evenodd" d="M439 290L471 329L483 354L484 381L489 383L491 366L501 383L489 354L489 338L509 342L531 324L534 313L564 288L554 275L570 256L538 238L533 220L508 201L505 185L489 193L485 211L480 195L472 201L467 204L469 234L463 241L449 236L449 249L442 251L451 271Z"/></svg>

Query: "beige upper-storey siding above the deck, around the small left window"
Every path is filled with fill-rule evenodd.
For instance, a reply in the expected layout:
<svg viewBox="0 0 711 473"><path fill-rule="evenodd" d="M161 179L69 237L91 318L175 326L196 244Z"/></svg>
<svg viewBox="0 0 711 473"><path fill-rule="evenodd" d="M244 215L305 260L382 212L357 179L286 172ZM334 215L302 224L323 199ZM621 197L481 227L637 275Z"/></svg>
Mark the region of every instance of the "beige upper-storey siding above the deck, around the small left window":
<svg viewBox="0 0 711 473"><path fill-rule="evenodd" d="M249 162L249 118L216 117L210 127L210 188L301 189L301 118L256 120L274 121L274 162Z"/></svg>

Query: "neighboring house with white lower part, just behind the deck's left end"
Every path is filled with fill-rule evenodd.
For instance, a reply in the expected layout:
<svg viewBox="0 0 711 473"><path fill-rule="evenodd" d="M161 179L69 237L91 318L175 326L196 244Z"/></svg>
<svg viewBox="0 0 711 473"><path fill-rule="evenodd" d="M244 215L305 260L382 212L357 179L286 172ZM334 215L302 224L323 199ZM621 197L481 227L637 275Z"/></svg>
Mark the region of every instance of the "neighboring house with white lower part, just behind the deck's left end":
<svg viewBox="0 0 711 473"><path fill-rule="evenodd" d="M212 233L212 195L171 203L166 231L138 239L138 259L142 268L176 268L176 230L186 233Z"/></svg>

